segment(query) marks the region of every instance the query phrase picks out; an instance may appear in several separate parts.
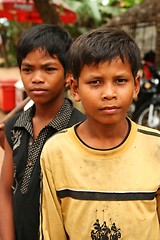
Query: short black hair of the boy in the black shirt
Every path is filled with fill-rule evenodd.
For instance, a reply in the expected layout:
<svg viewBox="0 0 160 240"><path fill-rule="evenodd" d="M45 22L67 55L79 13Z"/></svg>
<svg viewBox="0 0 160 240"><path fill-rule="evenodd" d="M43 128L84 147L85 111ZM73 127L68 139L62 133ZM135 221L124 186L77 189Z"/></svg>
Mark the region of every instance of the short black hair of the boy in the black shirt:
<svg viewBox="0 0 160 240"><path fill-rule="evenodd" d="M53 24L40 24L27 29L22 33L17 44L17 63L21 68L22 60L28 53L42 49L53 57L55 54L64 72L68 70L67 53L73 42L70 34L63 28Z"/></svg>

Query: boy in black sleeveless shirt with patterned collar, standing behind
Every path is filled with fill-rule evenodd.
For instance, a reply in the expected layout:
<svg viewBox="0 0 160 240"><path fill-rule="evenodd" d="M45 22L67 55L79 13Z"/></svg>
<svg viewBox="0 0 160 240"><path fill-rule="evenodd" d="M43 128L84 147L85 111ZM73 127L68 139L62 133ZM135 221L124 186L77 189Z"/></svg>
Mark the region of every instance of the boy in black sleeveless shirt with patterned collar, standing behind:
<svg viewBox="0 0 160 240"><path fill-rule="evenodd" d="M0 238L39 239L39 157L54 133L84 119L64 98L70 77L67 52L70 35L52 24L26 31L18 42L21 78L34 105L5 127L5 157L0 181ZM12 210L12 185L13 210Z"/></svg>

